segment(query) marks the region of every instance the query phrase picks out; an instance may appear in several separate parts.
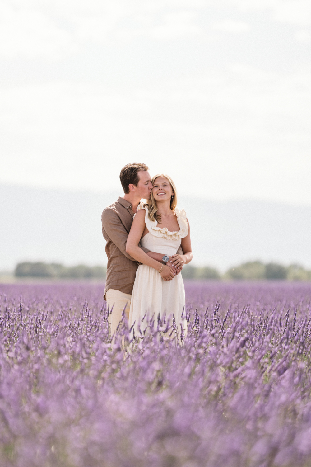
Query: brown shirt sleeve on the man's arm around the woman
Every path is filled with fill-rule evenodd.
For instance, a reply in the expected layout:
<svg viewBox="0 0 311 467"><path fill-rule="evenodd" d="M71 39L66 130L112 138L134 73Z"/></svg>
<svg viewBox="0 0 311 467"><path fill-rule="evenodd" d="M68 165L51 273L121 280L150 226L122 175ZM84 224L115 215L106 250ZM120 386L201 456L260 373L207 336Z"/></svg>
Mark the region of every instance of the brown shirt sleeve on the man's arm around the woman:
<svg viewBox="0 0 311 467"><path fill-rule="evenodd" d="M128 233L124 225L121 222L121 219L117 215L117 212L113 211L112 209L105 209L102 213L102 226L103 226L103 235L104 231L109 236L110 240L116 245L117 248L121 251L121 253L131 261L137 262L134 258L132 258L128 253L126 253L126 241ZM147 248L143 248L138 245L145 253L148 253L150 250Z"/></svg>

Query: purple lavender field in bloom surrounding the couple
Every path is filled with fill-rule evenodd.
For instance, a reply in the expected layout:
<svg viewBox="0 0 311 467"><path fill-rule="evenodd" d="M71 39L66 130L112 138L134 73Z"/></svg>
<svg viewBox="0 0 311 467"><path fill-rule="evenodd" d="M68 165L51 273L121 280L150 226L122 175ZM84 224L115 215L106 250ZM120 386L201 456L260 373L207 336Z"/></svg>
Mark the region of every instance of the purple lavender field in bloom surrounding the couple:
<svg viewBox="0 0 311 467"><path fill-rule="evenodd" d="M0 285L1 467L311 465L310 284L186 283L177 347L102 296Z"/></svg>

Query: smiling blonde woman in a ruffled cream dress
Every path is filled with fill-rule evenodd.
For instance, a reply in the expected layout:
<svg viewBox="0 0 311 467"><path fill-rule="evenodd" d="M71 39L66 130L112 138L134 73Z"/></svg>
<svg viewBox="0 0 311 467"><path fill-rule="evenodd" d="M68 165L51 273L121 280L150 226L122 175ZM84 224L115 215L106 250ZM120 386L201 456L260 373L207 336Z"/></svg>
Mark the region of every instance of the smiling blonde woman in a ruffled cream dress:
<svg viewBox="0 0 311 467"><path fill-rule="evenodd" d="M152 315L157 319L157 315L160 314L161 320L165 318L166 324L169 325L174 324L174 318L177 333L180 335L182 326L185 335L187 321L184 283L181 275L174 271L192 260L189 223L186 212L176 208L177 197L173 180L167 175L159 174L153 177L151 182L151 199L138 205L126 243L126 252L142 263L136 272L129 325L134 326L137 332L139 326L141 329L146 326ZM158 262L138 247L139 242L151 251L165 253L165 256L172 258L168 260L163 257L164 261ZM183 255L176 253L180 245ZM165 273L167 277L166 268L171 268L172 272L167 279L161 276ZM142 322L145 314L146 318Z"/></svg>

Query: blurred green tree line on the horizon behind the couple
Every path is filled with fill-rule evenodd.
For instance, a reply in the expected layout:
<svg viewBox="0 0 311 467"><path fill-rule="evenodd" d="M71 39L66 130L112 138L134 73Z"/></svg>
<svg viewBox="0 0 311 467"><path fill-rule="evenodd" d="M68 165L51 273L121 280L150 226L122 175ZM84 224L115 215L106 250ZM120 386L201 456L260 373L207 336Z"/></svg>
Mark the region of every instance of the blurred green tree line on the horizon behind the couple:
<svg viewBox="0 0 311 467"><path fill-rule="evenodd" d="M105 266L64 266L60 263L21 262L16 265L15 277L42 277L55 279L105 279ZM228 269L221 275L215 268L195 267L190 264L182 270L184 279L197 280L289 280L311 281L311 270L298 264L282 264L261 261L249 261Z"/></svg>

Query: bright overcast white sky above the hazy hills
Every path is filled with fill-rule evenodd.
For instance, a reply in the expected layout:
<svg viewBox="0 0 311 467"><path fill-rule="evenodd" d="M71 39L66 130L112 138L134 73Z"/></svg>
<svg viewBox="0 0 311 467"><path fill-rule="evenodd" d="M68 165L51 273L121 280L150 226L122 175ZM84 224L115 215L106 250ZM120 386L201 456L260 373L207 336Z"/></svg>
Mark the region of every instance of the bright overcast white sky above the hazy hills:
<svg viewBox="0 0 311 467"><path fill-rule="evenodd" d="M0 1L0 183L311 204L310 0Z"/></svg>

